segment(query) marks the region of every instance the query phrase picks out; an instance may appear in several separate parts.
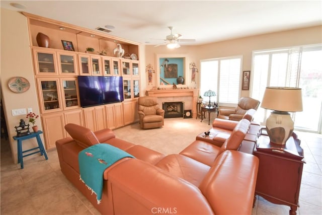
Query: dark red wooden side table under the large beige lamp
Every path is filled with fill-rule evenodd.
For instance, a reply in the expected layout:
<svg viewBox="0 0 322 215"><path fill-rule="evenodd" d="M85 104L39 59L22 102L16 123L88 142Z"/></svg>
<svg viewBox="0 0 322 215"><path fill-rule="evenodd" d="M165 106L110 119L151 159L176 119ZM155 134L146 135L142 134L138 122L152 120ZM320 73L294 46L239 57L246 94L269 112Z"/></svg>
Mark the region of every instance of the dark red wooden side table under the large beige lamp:
<svg viewBox="0 0 322 215"><path fill-rule="evenodd" d="M275 204L291 207L289 214L296 214L305 163L300 140L295 133L285 145L270 142L266 135L258 138L254 155L259 158L255 194Z"/></svg>

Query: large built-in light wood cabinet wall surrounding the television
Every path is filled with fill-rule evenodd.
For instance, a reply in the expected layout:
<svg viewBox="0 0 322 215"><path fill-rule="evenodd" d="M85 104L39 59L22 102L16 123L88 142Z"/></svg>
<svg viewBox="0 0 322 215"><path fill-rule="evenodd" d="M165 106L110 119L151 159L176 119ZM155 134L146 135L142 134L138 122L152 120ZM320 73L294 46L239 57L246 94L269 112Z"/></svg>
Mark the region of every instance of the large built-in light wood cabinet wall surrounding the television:
<svg viewBox="0 0 322 215"><path fill-rule="evenodd" d="M138 120L139 61L118 58L113 53L117 43L120 43L125 53L138 56L138 43L44 17L23 14L28 19L46 149L54 148L57 139L68 136L64 129L67 123L84 125L97 131L122 127ZM36 36L39 32L49 36L49 48L38 46ZM75 51L63 50L62 39L71 41ZM88 47L94 48L95 52L87 53ZM77 76L123 76L125 101L82 108L79 104Z"/></svg>

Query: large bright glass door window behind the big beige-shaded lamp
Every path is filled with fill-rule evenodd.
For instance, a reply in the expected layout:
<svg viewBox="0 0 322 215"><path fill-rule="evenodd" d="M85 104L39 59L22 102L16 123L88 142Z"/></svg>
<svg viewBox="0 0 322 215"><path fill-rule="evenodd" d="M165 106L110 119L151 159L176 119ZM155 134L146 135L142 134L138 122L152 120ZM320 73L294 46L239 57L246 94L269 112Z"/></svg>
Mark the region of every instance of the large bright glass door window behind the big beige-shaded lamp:
<svg viewBox="0 0 322 215"><path fill-rule="evenodd" d="M303 111L291 114L296 129L321 132L322 45L255 51L251 97L263 100L265 88L302 88ZM264 123L269 110L259 108L255 119ZM309 119L309 120L308 120Z"/></svg>

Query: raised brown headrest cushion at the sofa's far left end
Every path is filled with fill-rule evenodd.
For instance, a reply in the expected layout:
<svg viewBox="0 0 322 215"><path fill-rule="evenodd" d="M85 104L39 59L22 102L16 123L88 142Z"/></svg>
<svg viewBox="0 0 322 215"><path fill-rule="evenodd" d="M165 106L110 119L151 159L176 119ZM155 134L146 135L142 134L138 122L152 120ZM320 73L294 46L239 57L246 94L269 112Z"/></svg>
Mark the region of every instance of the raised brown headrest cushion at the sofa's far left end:
<svg viewBox="0 0 322 215"><path fill-rule="evenodd" d="M99 143L99 140L89 128L68 123L65 125L65 130L76 141L77 145L84 149Z"/></svg>

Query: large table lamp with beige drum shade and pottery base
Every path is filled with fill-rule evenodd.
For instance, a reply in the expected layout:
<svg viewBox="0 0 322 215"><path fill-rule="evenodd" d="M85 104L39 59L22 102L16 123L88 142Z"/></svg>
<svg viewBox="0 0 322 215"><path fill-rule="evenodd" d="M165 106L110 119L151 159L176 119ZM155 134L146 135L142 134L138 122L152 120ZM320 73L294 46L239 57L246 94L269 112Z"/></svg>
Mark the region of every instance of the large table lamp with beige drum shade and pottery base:
<svg viewBox="0 0 322 215"><path fill-rule="evenodd" d="M273 110L266 119L266 129L273 144L285 145L292 135L294 122L289 112L302 111L302 90L289 87L267 87L262 108Z"/></svg>

